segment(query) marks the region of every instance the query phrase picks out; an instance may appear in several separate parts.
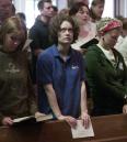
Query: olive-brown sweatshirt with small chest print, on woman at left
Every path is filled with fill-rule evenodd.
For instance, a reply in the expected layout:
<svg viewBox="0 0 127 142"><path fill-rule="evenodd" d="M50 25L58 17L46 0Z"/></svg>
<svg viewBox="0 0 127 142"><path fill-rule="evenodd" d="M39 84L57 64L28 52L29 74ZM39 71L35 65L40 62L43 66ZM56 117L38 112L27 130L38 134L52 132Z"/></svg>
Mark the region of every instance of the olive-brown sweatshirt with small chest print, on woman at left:
<svg viewBox="0 0 127 142"><path fill-rule="evenodd" d="M24 52L0 50L0 121L3 117L24 117L37 110Z"/></svg>

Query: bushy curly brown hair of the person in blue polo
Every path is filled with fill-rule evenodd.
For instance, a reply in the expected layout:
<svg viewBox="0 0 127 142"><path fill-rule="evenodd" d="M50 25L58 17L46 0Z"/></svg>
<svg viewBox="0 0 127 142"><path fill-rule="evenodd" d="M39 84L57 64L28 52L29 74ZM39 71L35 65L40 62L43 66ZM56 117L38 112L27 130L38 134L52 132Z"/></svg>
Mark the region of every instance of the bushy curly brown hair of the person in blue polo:
<svg viewBox="0 0 127 142"><path fill-rule="evenodd" d="M68 21L72 24L73 42L78 39L79 26L74 20L70 15L59 13L50 20L49 24L49 40L53 44L58 44L58 32L60 31L60 25L64 21Z"/></svg>

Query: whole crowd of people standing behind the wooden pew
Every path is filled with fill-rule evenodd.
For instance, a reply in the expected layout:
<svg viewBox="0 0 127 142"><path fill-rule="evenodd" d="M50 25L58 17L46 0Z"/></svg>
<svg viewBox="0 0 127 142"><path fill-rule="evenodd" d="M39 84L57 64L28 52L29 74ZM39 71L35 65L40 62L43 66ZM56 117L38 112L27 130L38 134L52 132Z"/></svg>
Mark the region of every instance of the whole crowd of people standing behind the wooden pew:
<svg viewBox="0 0 127 142"><path fill-rule="evenodd" d="M90 116L127 113L127 21L102 18L104 4L69 0L58 11L39 0L27 30L25 14L0 0L0 124L39 112L72 128L81 119L88 128Z"/></svg>

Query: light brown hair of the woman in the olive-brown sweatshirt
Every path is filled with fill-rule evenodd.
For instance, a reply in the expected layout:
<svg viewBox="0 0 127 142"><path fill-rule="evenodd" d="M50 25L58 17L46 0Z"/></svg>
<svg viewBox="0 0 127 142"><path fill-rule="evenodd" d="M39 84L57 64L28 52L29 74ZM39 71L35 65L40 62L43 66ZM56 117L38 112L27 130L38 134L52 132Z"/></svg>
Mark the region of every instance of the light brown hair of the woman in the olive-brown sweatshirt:
<svg viewBox="0 0 127 142"><path fill-rule="evenodd" d="M16 18L16 17L11 17L7 19L0 28L0 44L2 45L5 39L5 35L9 33L13 33L14 31L24 31L24 36L22 36L21 44L19 45L19 48L22 48L26 39L27 39L27 30L24 24L24 22Z"/></svg>

